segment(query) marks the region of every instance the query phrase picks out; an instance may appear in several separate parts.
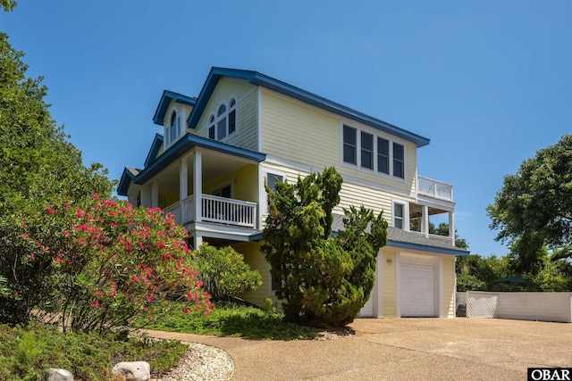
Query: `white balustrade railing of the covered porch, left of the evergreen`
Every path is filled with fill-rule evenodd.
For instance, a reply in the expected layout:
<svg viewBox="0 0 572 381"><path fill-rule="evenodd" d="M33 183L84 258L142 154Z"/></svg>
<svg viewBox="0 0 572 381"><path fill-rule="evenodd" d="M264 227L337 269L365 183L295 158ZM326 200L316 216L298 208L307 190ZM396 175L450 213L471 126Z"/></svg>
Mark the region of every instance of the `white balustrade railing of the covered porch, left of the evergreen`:
<svg viewBox="0 0 572 381"><path fill-rule="evenodd" d="M164 208L175 216L175 222L185 225L197 220L194 196L190 195ZM257 203L234 200L215 195L201 195L200 220L240 228L257 228Z"/></svg>

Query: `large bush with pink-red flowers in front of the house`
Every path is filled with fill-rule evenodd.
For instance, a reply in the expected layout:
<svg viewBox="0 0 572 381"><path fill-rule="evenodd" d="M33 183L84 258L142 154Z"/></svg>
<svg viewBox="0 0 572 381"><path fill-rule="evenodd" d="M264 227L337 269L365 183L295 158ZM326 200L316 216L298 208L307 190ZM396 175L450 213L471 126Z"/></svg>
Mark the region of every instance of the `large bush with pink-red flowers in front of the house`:
<svg viewBox="0 0 572 381"><path fill-rule="evenodd" d="M35 301L28 311L59 314L63 329L132 327L142 316L156 319L158 302L174 295L183 295L184 311L214 307L190 264L187 231L158 208L97 195L55 201L45 215L22 219L21 230L21 266L38 279L17 297Z"/></svg>

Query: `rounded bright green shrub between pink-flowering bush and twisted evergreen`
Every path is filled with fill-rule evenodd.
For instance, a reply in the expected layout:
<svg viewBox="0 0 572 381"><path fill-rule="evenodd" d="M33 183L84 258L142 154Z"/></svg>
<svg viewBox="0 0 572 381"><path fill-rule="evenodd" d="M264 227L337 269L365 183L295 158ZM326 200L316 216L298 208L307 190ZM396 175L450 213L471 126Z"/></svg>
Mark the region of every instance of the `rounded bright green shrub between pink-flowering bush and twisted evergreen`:
<svg viewBox="0 0 572 381"><path fill-rule="evenodd" d="M193 265L214 300L231 299L262 284L260 273L250 269L242 254L231 246L201 244L193 253Z"/></svg>

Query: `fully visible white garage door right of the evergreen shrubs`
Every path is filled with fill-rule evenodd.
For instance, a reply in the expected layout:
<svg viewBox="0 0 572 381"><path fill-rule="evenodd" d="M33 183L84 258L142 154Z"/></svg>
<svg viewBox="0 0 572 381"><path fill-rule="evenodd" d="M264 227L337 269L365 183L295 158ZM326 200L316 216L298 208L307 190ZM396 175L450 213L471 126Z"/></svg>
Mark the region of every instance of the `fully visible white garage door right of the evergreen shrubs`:
<svg viewBox="0 0 572 381"><path fill-rule="evenodd" d="M400 308L402 317L435 316L433 258L400 256Z"/></svg>

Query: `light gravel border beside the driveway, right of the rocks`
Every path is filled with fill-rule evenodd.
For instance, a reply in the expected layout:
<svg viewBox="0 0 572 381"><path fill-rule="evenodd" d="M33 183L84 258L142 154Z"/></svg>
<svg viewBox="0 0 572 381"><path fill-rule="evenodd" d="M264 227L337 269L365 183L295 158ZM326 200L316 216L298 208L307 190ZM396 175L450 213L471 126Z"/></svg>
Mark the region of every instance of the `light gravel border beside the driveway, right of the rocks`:
<svg viewBox="0 0 572 381"><path fill-rule="evenodd" d="M220 348L211 345L186 343L189 349L179 363L167 373L152 378L155 381L213 381L230 380L234 361Z"/></svg>

